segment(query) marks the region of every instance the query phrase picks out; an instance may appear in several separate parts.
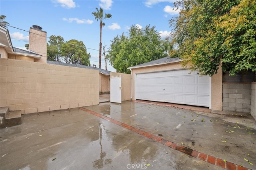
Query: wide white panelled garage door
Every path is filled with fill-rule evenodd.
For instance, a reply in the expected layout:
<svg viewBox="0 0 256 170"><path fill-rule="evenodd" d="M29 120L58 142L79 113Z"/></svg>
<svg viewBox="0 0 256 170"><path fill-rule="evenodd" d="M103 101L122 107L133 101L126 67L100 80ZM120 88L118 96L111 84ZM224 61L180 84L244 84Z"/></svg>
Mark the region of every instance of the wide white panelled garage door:
<svg viewBox="0 0 256 170"><path fill-rule="evenodd" d="M136 74L135 98L156 102L210 105L210 77L190 70Z"/></svg>

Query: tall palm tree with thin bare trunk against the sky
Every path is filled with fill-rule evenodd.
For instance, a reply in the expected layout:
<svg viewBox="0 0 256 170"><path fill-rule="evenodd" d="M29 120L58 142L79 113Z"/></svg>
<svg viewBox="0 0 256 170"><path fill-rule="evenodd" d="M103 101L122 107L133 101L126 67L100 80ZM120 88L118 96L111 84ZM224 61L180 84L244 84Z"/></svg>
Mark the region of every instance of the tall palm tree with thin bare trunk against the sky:
<svg viewBox="0 0 256 170"><path fill-rule="evenodd" d="M105 23L102 21L107 18L111 18L112 15L105 13L105 17L103 17L103 9L100 8L100 11L99 11L98 8L96 8L96 10L97 10L97 12L92 12L92 14L95 16L95 20L96 19L97 19L97 21L100 20L100 53L99 53L99 68L100 68L101 67L101 47L102 47L101 34L102 34L102 26L104 27L104 25L105 25Z"/></svg>

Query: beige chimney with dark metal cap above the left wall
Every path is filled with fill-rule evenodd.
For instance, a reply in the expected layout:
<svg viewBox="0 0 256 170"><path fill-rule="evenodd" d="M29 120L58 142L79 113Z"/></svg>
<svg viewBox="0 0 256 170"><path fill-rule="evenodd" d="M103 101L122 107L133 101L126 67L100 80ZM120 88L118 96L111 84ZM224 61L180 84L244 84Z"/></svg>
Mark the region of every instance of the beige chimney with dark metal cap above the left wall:
<svg viewBox="0 0 256 170"><path fill-rule="evenodd" d="M29 49L35 53L42 55L41 59L34 59L34 62L47 62L47 42L46 31L42 31L42 27L33 25L29 30Z"/></svg>

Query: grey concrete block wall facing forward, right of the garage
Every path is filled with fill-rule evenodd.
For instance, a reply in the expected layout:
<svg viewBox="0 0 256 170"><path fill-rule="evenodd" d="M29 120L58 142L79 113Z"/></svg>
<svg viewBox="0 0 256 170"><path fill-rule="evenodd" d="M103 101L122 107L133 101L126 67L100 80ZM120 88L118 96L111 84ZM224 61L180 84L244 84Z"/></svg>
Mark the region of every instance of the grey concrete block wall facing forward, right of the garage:
<svg viewBox="0 0 256 170"><path fill-rule="evenodd" d="M250 113L251 83L224 82L222 110Z"/></svg>

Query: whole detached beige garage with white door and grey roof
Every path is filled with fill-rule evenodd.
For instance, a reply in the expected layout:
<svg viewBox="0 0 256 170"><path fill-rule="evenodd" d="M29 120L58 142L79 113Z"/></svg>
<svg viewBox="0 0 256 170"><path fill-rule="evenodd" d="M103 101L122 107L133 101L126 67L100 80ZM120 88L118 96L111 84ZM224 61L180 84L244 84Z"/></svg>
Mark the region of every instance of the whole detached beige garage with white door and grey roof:
<svg viewBox="0 0 256 170"><path fill-rule="evenodd" d="M222 110L222 72L201 76L184 69L181 61L165 57L128 68L132 74L132 99Z"/></svg>

